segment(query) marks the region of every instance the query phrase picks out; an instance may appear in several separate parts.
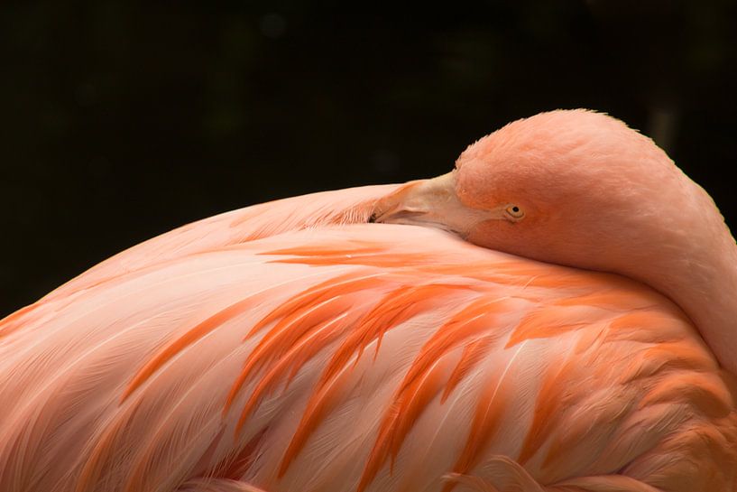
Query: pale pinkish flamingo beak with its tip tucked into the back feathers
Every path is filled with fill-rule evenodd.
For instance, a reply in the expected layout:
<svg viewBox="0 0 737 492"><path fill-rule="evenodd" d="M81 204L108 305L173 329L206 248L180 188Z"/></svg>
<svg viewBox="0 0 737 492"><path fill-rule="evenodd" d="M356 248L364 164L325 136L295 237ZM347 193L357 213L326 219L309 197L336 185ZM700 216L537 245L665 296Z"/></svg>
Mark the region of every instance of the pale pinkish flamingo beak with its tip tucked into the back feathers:
<svg viewBox="0 0 737 492"><path fill-rule="evenodd" d="M471 209L458 198L456 172L431 180L410 181L378 200L371 222L438 227L460 237L479 222L495 217L495 211Z"/></svg>

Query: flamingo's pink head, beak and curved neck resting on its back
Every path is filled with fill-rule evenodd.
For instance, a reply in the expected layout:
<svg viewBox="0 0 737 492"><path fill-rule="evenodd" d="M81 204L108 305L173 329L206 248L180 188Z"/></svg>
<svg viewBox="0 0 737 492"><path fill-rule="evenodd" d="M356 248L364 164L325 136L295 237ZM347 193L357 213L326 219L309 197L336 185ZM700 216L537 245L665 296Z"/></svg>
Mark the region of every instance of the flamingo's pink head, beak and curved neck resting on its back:
<svg viewBox="0 0 737 492"><path fill-rule="evenodd" d="M722 215L656 144L611 116L576 109L515 121L471 144L454 171L377 202L374 220L440 227L478 246L622 274L668 295L700 329L722 325L705 336L710 345L734 339L734 296L717 308L724 320L704 307L714 311L716 277L737 292L737 248ZM737 369L733 352L714 351Z"/></svg>

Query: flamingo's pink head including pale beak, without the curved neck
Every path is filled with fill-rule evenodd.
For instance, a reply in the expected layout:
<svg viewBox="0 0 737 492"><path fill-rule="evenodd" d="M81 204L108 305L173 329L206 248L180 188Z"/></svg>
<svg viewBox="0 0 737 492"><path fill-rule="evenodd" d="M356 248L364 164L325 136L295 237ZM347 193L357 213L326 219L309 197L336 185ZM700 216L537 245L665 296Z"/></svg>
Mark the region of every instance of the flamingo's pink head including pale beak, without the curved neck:
<svg viewBox="0 0 737 492"><path fill-rule="evenodd" d="M678 233L676 221L689 227L690 185L622 122L557 111L484 137L454 171L411 181L374 215L539 261L636 276L630 270L659 254L664 235Z"/></svg>

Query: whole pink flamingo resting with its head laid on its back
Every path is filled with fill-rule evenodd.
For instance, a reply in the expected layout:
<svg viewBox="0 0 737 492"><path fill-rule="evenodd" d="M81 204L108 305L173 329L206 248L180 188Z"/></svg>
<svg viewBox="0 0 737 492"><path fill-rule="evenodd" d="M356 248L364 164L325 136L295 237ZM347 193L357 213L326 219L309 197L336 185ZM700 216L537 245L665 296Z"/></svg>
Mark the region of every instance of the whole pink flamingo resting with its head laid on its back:
<svg viewBox="0 0 737 492"><path fill-rule="evenodd" d="M0 490L737 491L735 255L585 110L207 218L0 322Z"/></svg>

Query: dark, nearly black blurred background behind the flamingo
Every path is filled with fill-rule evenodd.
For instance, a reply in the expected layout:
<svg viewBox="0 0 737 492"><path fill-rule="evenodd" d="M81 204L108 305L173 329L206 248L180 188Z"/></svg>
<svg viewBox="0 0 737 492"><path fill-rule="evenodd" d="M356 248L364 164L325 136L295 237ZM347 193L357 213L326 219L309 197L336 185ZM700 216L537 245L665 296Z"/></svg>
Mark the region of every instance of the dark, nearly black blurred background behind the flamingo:
<svg viewBox="0 0 737 492"><path fill-rule="evenodd" d="M437 175L558 107L653 136L734 225L735 4L5 1L0 316L183 223Z"/></svg>

